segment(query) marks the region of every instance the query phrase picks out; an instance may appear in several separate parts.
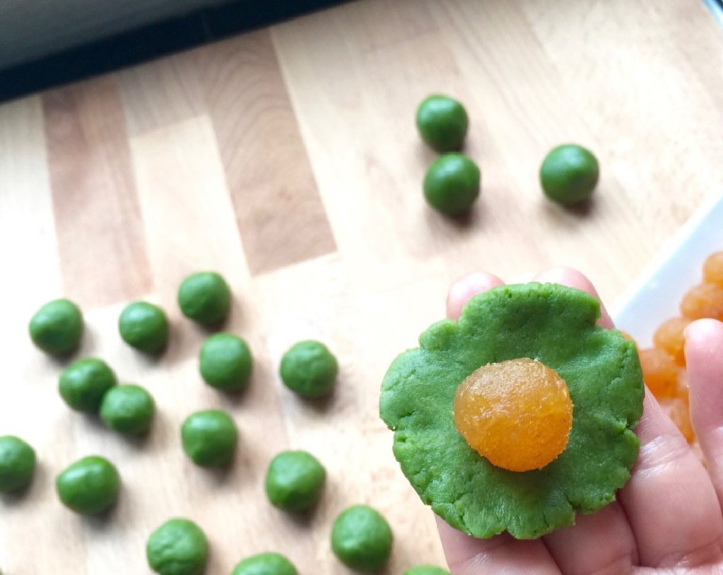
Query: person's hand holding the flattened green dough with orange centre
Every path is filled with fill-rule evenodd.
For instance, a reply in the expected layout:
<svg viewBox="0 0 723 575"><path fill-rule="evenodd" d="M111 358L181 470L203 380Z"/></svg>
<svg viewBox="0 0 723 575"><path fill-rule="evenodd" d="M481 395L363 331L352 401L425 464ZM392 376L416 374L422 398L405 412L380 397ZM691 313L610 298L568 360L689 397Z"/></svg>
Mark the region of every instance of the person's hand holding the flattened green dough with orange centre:
<svg viewBox="0 0 723 575"><path fill-rule="evenodd" d="M598 297L585 276L568 268L534 279ZM502 283L489 273L461 278L450 289L448 318L458 319L469 298ZM612 327L604 307L601 324ZM723 323L690 324L685 357L690 419L707 467L646 392L635 429L640 454L617 501L537 540L507 533L475 539L437 518L452 574L723 574Z"/></svg>

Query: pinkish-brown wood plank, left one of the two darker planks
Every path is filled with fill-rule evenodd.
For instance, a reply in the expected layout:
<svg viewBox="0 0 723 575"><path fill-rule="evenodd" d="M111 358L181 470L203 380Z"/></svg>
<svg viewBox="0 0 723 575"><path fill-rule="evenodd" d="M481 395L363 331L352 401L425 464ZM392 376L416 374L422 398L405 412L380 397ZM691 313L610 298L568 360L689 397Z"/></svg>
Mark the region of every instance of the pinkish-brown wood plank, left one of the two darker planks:
<svg viewBox="0 0 723 575"><path fill-rule="evenodd" d="M123 108L112 77L43 95L64 291L84 306L152 286Z"/></svg>

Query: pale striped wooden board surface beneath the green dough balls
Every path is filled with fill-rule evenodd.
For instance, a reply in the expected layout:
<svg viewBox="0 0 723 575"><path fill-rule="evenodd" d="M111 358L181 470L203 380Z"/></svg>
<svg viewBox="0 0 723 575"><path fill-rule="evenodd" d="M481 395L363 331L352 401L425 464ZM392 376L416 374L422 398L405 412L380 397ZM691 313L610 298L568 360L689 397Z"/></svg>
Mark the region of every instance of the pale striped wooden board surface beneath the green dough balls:
<svg viewBox="0 0 723 575"><path fill-rule="evenodd" d="M723 183L723 30L696 0L359 0L186 54L0 107L0 435L35 446L30 490L0 498L4 575L145 574L147 535L171 516L208 532L209 575L280 550L301 574L346 574L330 553L345 506L380 509L396 535L386 574L442 563L431 512L393 459L377 414L395 354L442 317L453 278L523 278L552 264L591 276L612 302L704 197ZM429 210L420 182L434 154L416 104L448 93L471 117L482 168L474 213ZM589 209L547 203L536 171L561 142L599 158ZM256 357L247 393L204 386L205 336L180 317L179 281L223 273L228 330ZM129 443L71 412L62 364L27 320L64 295L85 310L80 355L106 359L158 403L153 433ZM171 345L151 361L121 343L132 299L168 310ZM276 372L300 338L341 361L323 404ZM239 425L227 473L192 466L179 425L195 409ZM305 448L328 469L319 508L290 519L262 491L269 459ZM104 519L82 519L54 477L90 453L124 481Z"/></svg>

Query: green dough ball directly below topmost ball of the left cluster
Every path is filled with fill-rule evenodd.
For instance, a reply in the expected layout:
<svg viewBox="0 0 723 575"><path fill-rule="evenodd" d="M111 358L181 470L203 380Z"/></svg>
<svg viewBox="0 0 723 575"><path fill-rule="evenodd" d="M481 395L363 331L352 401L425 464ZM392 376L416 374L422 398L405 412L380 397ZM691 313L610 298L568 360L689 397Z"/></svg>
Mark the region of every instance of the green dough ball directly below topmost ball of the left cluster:
<svg viewBox="0 0 723 575"><path fill-rule="evenodd" d="M199 356L203 380L224 391L240 391L248 385L252 362L249 346L231 333L210 336Z"/></svg>

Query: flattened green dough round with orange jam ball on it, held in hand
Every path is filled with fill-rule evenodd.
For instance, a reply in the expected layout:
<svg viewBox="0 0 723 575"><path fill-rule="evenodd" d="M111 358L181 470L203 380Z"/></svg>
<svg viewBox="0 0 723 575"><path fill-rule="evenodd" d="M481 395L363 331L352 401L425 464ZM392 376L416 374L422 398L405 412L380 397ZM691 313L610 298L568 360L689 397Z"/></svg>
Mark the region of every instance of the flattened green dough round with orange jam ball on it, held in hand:
<svg viewBox="0 0 723 575"><path fill-rule="evenodd" d="M615 500L638 457L643 378L636 345L599 317L584 291L500 286L390 365L394 455L452 527L532 539Z"/></svg>

